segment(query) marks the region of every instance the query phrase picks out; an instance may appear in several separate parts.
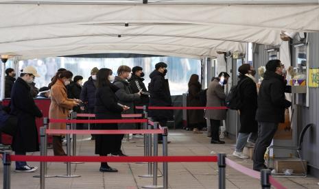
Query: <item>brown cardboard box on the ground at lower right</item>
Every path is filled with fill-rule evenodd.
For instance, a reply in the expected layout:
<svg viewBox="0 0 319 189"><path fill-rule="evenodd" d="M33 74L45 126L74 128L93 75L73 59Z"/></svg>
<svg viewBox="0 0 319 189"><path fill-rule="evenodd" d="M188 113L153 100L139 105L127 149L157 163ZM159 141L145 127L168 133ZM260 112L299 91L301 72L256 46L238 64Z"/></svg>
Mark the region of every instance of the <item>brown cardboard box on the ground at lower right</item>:
<svg viewBox="0 0 319 189"><path fill-rule="evenodd" d="M305 165L307 171L307 161L303 160L303 164ZM303 166L300 160L295 158L282 158L282 159L274 159L274 168L277 173L283 173L283 169L290 168L294 170L293 173L303 173Z"/></svg>

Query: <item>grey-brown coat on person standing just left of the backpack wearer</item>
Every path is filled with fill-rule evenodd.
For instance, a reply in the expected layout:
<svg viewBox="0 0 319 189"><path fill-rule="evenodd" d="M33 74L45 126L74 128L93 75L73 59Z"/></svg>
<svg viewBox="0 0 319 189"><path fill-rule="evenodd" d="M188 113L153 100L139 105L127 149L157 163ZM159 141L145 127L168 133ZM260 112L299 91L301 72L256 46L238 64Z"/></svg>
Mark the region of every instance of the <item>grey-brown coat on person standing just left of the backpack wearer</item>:
<svg viewBox="0 0 319 189"><path fill-rule="evenodd" d="M226 94L217 79L211 81L206 95L206 107L220 107L225 105ZM226 110L205 110L204 117L215 120L225 120Z"/></svg>

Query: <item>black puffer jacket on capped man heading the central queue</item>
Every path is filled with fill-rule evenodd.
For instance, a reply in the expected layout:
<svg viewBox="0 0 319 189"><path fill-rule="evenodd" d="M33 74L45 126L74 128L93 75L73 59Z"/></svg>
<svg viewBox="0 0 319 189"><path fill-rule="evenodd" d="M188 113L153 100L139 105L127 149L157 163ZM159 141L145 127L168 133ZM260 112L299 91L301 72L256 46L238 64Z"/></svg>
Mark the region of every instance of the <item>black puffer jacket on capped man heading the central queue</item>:
<svg viewBox="0 0 319 189"><path fill-rule="evenodd" d="M168 80L164 76L163 73L158 71L153 71L150 74L151 82L148 84L150 106L172 106ZM173 110L149 110L149 116L158 119L173 119L173 115Z"/></svg>

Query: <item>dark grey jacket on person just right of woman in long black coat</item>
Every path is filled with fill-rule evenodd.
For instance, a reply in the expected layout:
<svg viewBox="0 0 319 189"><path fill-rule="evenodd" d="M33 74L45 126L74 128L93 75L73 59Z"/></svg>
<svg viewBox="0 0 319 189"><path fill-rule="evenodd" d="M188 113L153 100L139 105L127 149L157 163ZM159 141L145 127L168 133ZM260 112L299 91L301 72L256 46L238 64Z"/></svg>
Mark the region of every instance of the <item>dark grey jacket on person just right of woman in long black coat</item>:
<svg viewBox="0 0 319 189"><path fill-rule="evenodd" d="M131 94L128 81L121 77L115 76L113 84L119 88L115 95L119 99L118 103L127 105L130 109L122 112L122 114L134 114L134 101L138 101L140 96L137 93ZM119 123L119 129L136 129L134 123Z"/></svg>

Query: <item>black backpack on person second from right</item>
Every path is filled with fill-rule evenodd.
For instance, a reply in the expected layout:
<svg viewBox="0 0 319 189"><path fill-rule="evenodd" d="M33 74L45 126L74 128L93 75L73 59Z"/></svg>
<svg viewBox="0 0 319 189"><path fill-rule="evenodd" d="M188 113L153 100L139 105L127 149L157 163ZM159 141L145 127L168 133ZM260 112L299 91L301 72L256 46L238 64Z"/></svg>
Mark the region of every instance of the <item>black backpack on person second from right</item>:
<svg viewBox="0 0 319 189"><path fill-rule="evenodd" d="M246 78L249 79L249 78ZM244 81L240 81L239 84L232 86L231 90L229 91L227 97L226 97L226 107L231 110L239 110L241 108L241 95L240 95L240 86Z"/></svg>

